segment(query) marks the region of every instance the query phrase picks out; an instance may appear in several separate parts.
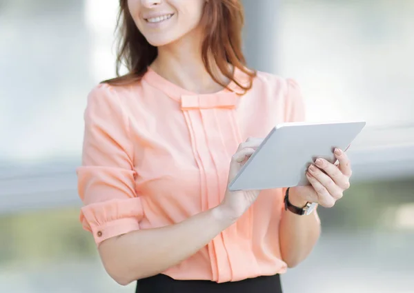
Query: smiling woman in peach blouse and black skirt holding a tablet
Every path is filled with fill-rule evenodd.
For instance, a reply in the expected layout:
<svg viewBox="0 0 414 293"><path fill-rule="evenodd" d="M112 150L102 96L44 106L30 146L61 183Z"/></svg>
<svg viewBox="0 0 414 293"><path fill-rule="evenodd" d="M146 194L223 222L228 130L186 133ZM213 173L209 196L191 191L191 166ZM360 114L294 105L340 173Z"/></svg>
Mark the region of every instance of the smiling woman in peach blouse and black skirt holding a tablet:
<svg viewBox="0 0 414 293"><path fill-rule="evenodd" d="M346 154L317 160L310 186L228 192L275 124L304 119L297 84L246 68L239 0L120 8L117 71L130 72L90 92L78 170L81 222L106 271L142 293L282 292L279 274L320 233L316 212L299 214L342 197Z"/></svg>

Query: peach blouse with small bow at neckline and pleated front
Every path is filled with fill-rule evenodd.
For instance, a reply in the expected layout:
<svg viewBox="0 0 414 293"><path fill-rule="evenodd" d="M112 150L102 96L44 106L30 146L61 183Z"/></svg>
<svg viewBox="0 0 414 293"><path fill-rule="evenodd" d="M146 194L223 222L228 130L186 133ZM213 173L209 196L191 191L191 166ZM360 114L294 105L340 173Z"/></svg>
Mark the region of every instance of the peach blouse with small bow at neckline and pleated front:
<svg viewBox="0 0 414 293"><path fill-rule="evenodd" d="M235 78L247 82L241 70ZM239 143L266 137L277 123L304 119L291 79L257 72L246 94L237 94L235 83L228 87L195 94L148 69L132 85L99 84L90 92L77 174L81 223L97 245L217 206ZM221 283L285 272L279 247L283 192L263 191L236 223L164 274Z"/></svg>

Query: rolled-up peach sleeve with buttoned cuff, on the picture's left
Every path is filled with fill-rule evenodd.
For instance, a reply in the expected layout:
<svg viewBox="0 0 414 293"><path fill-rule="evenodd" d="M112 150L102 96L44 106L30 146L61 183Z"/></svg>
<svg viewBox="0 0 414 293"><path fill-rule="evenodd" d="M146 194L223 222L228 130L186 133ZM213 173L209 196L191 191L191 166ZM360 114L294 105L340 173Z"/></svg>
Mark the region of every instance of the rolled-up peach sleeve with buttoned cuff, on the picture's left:
<svg viewBox="0 0 414 293"><path fill-rule="evenodd" d="M115 90L101 84L88 95L82 165L77 168L83 201L80 221L102 241L139 230L143 211L135 192L133 145L128 117Z"/></svg>

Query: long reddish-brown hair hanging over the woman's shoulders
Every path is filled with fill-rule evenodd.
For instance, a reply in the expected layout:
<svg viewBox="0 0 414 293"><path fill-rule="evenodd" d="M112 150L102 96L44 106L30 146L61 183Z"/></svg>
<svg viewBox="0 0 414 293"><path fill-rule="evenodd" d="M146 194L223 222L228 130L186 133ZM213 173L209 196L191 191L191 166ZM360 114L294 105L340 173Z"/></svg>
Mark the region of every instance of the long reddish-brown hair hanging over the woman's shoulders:
<svg viewBox="0 0 414 293"><path fill-rule="evenodd" d="M201 26L205 33L201 47L204 66L213 80L226 88L227 85L213 74L212 63L214 62L209 59L213 55L221 74L235 82L242 90L247 91L252 87L256 72L246 68L246 60L242 52L243 25L244 13L241 0L206 1L204 14L201 17ZM117 32L117 77L103 82L121 85L139 81L146 73L148 66L157 58L158 51L139 32L131 17L127 0L119 0ZM233 68L229 68L228 63L248 75L250 78L248 85L235 80ZM120 76L121 65L126 65L128 74Z"/></svg>

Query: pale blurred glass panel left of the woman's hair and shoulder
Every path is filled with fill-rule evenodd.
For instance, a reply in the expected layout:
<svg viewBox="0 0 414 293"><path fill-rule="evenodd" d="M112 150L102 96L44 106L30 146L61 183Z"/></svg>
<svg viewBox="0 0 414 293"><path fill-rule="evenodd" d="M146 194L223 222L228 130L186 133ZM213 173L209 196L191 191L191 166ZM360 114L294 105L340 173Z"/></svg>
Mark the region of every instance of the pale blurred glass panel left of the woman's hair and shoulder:
<svg viewBox="0 0 414 293"><path fill-rule="evenodd" d="M1 1L0 165L79 156L86 95L114 75L116 12L110 0Z"/></svg>

